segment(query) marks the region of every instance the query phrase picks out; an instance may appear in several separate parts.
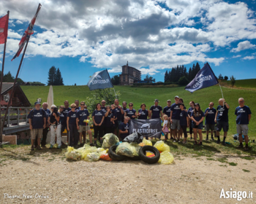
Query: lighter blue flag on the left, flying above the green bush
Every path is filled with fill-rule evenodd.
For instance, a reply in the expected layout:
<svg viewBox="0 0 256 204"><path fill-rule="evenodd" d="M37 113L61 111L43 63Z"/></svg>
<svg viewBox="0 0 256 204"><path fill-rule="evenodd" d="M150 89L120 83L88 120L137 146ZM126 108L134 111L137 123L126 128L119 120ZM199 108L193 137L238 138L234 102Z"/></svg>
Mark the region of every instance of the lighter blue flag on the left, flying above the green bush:
<svg viewBox="0 0 256 204"><path fill-rule="evenodd" d="M87 83L90 90L113 88L108 70L97 71Z"/></svg>

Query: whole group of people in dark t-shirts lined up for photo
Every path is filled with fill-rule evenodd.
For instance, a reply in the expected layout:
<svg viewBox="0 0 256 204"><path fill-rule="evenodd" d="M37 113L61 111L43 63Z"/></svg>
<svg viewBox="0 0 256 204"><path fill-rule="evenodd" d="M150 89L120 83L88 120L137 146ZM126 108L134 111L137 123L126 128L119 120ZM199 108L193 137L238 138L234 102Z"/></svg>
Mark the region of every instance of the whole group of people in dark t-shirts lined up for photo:
<svg viewBox="0 0 256 204"><path fill-rule="evenodd" d="M124 101L122 106L119 105L118 99L110 106L106 105L106 101L102 100L97 103L95 110L91 114L94 123L94 142L92 139L91 129L86 119L89 119L90 113L87 110L86 103L76 100L69 107L69 101L64 101L64 106L59 106L59 109L52 105L51 111L48 109L47 103L34 103L34 109L29 113L29 124L31 129L31 150L34 148L41 149L45 147L46 137L50 129L50 149L55 143L58 148L61 148L61 134L67 130L67 143L69 146L83 146L86 139L86 132L89 134L91 146L97 144L97 140L102 144L102 137L106 133L114 133L120 140L129 136L129 120L131 119L155 119L161 118L164 120L162 132L165 134L165 141L167 141L170 134L170 139L173 142L181 142L182 135L184 135L183 144L187 144L187 127L189 127L190 139L195 140L195 145L203 144L203 119L206 118L206 140L211 130L211 140L214 141L214 130L217 124L217 144L220 144L219 132L223 129L224 136L222 144L225 145L225 139L228 131L228 110L230 106L224 98L219 99L219 106L214 109L214 103L209 103L209 107L202 111L199 103L190 101L189 109L184 106L184 101L175 96L175 103L171 104L167 100L167 106L162 109L159 106L159 101L154 100L154 105L150 109L146 109L146 104L142 103L140 109L136 111L133 108L133 103ZM248 150L248 124L251 119L251 111L248 106L244 105L244 98L238 99L239 106L236 108L236 127L239 134L239 148L243 147L243 138L246 142L245 150ZM79 106L80 105L80 106ZM197 143L197 133L199 135L199 142ZM42 138L42 141L41 141ZM82 141L83 138L83 141ZM36 140L37 139L37 140ZM36 140L36 141L35 141Z"/></svg>

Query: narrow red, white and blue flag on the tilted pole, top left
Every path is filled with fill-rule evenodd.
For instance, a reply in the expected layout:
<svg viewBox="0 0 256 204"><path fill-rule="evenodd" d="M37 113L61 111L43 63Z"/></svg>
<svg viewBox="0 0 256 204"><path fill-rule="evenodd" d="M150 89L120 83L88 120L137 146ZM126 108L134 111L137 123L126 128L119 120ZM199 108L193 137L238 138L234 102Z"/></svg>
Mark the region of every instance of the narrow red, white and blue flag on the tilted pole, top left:
<svg viewBox="0 0 256 204"><path fill-rule="evenodd" d="M15 58L17 58L20 55L20 52L23 50L23 47L26 44L26 42L28 41L29 36L31 36L31 34L34 34L33 27L34 27L34 23L36 23L37 15L38 15L40 9L41 9L41 4L39 4L36 15L34 15L33 19L29 23L29 27L26 28L25 33L23 34L22 38L20 39L19 49L16 52L16 54L14 55L14 57L12 58L12 60L14 60Z"/></svg>

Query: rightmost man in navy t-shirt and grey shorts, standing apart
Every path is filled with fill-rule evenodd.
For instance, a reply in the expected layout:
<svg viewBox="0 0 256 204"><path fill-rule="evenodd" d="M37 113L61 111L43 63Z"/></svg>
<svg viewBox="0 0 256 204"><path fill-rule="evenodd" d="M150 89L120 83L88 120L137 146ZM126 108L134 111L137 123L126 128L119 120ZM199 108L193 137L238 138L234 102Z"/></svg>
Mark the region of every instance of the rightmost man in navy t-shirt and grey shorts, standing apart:
<svg viewBox="0 0 256 204"><path fill-rule="evenodd" d="M238 99L239 106L236 108L235 114L236 114L236 131L239 135L239 141L240 144L238 148L243 148L243 136L244 134L244 140L246 146L244 147L244 150L248 151L248 124L252 117L252 112L249 109L248 106L244 106L244 98Z"/></svg>

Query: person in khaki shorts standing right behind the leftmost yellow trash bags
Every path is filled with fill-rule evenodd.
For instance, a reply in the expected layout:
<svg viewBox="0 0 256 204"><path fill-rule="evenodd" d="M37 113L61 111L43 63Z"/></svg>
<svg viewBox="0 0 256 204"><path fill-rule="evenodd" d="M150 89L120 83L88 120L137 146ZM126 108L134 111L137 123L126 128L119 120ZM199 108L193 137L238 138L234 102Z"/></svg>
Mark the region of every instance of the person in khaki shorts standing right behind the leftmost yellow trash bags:
<svg viewBox="0 0 256 204"><path fill-rule="evenodd" d="M90 145L94 146L94 144L92 143L92 134L91 134L90 126L88 123L84 122L84 120L90 119L89 111L85 109L85 106L86 106L86 103L84 101L81 101L80 109L76 114L76 125L79 133L80 146L83 146L83 144L86 144L86 132L89 134ZM85 132L84 135L83 135L83 132ZM82 141L82 136L83 136L83 141Z"/></svg>

